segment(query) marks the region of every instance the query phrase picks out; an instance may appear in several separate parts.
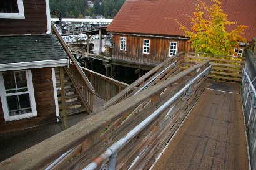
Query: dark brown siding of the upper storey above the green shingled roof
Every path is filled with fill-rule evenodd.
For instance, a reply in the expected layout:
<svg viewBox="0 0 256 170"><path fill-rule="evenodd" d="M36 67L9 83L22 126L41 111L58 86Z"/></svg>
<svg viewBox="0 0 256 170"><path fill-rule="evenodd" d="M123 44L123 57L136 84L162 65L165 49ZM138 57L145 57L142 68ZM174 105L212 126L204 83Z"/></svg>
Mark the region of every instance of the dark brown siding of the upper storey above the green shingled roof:
<svg viewBox="0 0 256 170"><path fill-rule="evenodd" d="M47 32L46 1L23 0L25 19L0 19L0 34L43 34Z"/></svg>

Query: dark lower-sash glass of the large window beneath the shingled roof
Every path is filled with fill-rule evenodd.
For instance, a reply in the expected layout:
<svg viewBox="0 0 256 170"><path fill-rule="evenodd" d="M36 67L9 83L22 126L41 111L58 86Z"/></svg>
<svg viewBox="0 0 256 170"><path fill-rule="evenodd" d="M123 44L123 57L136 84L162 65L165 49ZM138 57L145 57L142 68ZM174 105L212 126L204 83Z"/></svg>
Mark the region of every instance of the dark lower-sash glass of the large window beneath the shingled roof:
<svg viewBox="0 0 256 170"><path fill-rule="evenodd" d="M6 98L10 116L22 115L32 112L29 94L13 95Z"/></svg>

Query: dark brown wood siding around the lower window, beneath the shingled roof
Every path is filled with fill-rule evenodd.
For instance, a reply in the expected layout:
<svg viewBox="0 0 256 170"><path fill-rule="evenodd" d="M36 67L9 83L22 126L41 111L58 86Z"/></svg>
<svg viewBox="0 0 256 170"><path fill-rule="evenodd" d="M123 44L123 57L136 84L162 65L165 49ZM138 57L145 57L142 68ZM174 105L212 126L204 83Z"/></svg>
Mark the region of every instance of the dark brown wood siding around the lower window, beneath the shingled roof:
<svg viewBox="0 0 256 170"><path fill-rule="evenodd" d="M2 104L0 103L0 133L56 122L51 68L36 68L31 71L37 116L6 122L4 121L4 113L2 111Z"/></svg>

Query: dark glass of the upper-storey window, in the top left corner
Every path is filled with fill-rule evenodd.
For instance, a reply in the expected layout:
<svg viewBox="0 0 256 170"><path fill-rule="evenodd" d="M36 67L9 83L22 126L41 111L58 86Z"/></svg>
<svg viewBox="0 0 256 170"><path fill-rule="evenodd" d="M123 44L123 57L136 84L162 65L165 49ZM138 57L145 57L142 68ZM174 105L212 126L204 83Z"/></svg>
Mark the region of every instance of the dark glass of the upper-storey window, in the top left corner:
<svg viewBox="0 0 256 170"><path fill-rule="evenodd" d="M17 0L1 0L0 13L19 13Z"/></svg>

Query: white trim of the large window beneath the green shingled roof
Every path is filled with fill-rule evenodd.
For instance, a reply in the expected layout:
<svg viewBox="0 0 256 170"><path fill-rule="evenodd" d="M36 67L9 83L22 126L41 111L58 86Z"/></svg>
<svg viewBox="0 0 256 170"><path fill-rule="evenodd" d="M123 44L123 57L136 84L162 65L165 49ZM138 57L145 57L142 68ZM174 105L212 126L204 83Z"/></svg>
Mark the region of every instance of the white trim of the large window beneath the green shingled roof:
<svg viewBox="0 0 256 170"><path fill-rule="evenodd" d="M2 110L4 111L5 121L21 120L24 118L31 118L31 117L37 116L36 100L34 97L34 87L32 82L32 73L31 73L31 70L25 70L25 71L26 71L27 88L29 92L29 99L30 99L32 112L26 113L24 115L16 115L16 116L9 115L9 109L8 109L7 100L6 100L6 89L4 87L4 78L2 77L2 72L0 73L0 97L2 102Z"/></svg>

